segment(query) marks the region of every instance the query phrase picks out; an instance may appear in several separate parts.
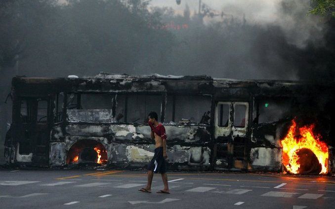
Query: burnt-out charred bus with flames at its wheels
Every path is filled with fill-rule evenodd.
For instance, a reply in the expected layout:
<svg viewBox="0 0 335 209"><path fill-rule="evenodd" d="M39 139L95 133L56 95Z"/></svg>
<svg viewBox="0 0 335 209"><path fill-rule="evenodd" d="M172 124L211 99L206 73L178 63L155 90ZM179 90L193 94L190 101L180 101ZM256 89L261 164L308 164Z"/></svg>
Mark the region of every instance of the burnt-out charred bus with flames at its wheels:
<svg viewBox="0 0 335 209"><path fill-rule="evenodd" d="M153 156L147 115L168 135L168 168L330 174L329 124L298 125L311 95L334 87L209 76L14 77L8 164L142 168ZM318 111L318 107L315 107Z"/></svg>

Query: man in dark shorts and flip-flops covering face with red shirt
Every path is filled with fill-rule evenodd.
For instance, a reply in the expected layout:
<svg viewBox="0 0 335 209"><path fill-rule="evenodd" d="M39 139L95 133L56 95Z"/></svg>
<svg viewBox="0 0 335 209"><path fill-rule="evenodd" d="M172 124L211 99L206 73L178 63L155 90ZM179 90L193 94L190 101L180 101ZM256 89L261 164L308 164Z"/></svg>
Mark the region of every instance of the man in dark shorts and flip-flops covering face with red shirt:
<svg viewBox="0 0 335 209"><path fill-rule="evenodd" d="M157 193L169 194L168 175L166 173L167 155L167 135L165 128L161 123L158 123L158 115L156 112L150 112L148 115L148 125L151 128L151 139L155 139L155 154L148 165L148 183L145 188L140 189L141 192L151 193L151 183L154 173L162 174L164 189Z"/></svg>

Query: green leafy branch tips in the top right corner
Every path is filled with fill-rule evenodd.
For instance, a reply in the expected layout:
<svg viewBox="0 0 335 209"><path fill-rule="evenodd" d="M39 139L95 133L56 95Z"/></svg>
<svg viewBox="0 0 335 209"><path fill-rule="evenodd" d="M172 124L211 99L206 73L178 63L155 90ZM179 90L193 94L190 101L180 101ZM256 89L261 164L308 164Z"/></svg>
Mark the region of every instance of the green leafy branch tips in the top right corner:
<svg viewBox="0 0 335 209"><path fill-rule="evenodd" d="M335 17L335 0L312 0L313 8L309 10L310 13Z"/></svg>

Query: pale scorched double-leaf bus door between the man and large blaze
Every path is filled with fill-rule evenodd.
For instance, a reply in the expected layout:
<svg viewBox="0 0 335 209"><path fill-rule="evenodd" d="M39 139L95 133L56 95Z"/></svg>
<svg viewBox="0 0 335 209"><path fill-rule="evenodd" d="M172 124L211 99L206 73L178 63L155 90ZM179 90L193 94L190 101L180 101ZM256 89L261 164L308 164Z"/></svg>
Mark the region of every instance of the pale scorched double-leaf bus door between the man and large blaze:
<svg viewBox="0 0 335 209"><path fill-rule="evenodd" d="M244 169L245 144L249 121L248 102L215 104L214 118L214 168Z"/></svg>

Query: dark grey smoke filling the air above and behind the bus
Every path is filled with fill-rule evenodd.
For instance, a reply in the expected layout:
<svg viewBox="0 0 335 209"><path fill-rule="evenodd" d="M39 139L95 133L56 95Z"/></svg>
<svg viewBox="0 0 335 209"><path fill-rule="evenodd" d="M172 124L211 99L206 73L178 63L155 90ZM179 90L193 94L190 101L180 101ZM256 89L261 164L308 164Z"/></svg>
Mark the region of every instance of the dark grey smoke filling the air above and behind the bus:
<svg viewBox="0 0 335 209"><path fill-rule="evenodd" d="M149 9L148 2L0 0L0 149L11 115L10 102L3 101L14 75L105 71L334 82L334 18L306 16L308 1L282 0L281 18L271 24L206 6L201 14L185 9L178 16ZM204 24L210 17L219 21ZM333 93L314 89L315 97L303 101L310 104L305 111L317 107L321 112L310 115L326 124L325 115L335 118Z"/></svg>

